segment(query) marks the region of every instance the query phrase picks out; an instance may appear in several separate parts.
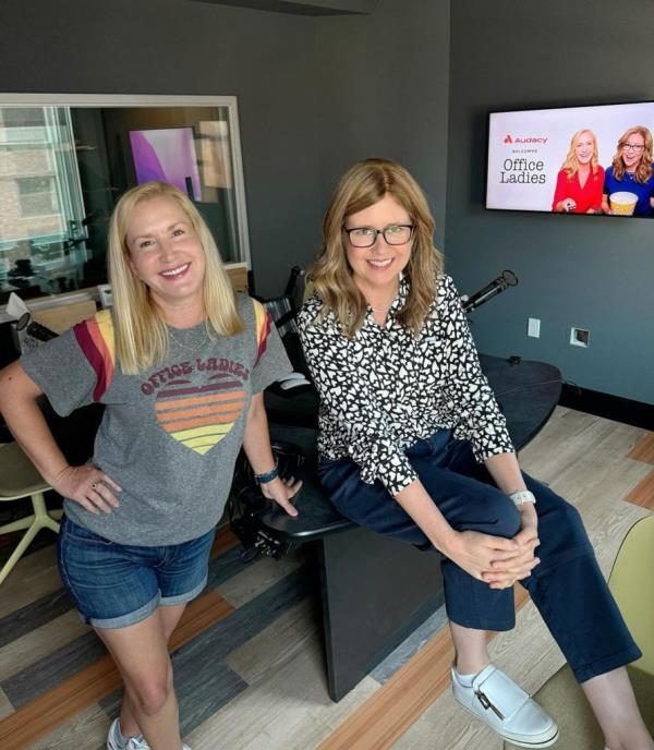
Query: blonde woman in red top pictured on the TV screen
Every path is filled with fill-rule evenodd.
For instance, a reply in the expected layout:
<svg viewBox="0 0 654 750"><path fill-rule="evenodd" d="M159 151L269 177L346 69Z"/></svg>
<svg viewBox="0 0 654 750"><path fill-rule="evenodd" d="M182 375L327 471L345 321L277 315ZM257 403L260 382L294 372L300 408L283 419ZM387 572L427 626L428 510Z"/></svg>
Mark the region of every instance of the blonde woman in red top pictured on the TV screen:
<svg viewBox="0 0 654 750"><path fill-rule="evenodd" d="M588 128L577 131L556 178L552 210L601 214L604 168L597 164L597 138Z"/></svg>

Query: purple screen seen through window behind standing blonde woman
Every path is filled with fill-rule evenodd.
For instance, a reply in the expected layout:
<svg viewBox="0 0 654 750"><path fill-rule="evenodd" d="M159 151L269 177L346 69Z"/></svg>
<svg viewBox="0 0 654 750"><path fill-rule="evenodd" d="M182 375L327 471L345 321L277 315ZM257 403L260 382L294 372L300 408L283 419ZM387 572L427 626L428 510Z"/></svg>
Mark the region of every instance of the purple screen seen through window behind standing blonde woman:
<svg viewBox="0 0 654 750"><path fill-rule="evenodd" d="M130 131L136 182L161 180L177 185L190 198L202 199L193 128Z"/></svg>

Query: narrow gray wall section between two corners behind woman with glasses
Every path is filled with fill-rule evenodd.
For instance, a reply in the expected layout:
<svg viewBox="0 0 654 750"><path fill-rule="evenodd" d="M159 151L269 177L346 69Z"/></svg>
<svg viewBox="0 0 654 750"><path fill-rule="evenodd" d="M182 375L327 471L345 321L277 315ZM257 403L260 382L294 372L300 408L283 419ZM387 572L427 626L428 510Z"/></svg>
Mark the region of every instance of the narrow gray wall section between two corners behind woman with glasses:
<svg viewBox="0 0 654 750"><path fill-rule="evenodd" d="M425 190L443 247L449 0L379 0L370 16L316 28L323 205L354 161L398 159Z"/></svg>

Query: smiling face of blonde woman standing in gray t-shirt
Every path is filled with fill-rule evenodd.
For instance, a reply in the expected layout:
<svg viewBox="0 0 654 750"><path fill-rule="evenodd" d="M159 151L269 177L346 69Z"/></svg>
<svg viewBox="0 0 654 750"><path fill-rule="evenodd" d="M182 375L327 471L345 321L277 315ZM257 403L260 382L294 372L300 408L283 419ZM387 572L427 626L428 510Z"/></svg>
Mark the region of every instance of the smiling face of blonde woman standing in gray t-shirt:
<svg viewBox="0 0 654 750"><path fill-rule="evenodd" d="M166 319L173 311L204 311L205 253L191 220L170 197L138 203L128 225L128 263Z"/></svg>

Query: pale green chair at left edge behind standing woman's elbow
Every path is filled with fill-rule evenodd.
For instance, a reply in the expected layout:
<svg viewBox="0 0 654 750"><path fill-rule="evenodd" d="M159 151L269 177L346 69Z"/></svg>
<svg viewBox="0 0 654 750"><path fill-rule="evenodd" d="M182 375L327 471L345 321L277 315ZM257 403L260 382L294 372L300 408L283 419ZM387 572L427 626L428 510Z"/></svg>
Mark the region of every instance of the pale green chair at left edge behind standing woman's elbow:
<svg viewBox="0 0 654 750"><path fill-rule="evenodd" d="M17 547L0 570L0 583L9 576L41 529L51 529L55 533L59 532L57 519L61 518L62 511L48 511L44 498L44 492L47 489L50 489L50 485L44 482L17 443L0 445L0 501L20 500L28 497L32 500L33 509L31 516L0 527L0 534L27 529Z"/></svg>

